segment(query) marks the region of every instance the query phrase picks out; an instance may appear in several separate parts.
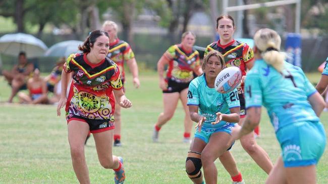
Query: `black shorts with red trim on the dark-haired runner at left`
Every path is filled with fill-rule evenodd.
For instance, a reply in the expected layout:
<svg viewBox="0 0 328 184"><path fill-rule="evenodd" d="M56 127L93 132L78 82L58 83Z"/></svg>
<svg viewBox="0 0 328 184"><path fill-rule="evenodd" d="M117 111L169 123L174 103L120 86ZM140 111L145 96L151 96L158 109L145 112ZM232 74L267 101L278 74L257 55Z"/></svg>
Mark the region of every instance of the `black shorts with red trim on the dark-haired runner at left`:
<svg viewBox="0 0 328 184"><path fill-rule="evenodd" d="M91 133L99 133L104 132L107 130L112 130L115 128L114 121L110 119L107 120L95 120L95 119L88 119L81 116L77 116L74 114L67 114L66 115L67 124L70 123L72 120L82 121L89 125L89 130Z"/></svg>

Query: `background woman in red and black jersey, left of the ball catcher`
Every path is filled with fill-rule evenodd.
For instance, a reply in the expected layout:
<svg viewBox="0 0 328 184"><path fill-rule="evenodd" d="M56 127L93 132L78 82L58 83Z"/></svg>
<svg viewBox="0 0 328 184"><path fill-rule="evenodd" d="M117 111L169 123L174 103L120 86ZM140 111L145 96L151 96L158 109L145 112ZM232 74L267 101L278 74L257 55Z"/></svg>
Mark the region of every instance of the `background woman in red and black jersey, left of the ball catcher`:
<svg viewBox="0 0 328 184"><path fill-rule="evenodd" d="M159 87L163 92L164 111L160 113L154 126L152 136L154 142L158 141L160 128L172 118L179 99L186 113L184 142L190 142L192 121L187 107L188 86L194 78L193 72L197 75L202 73L199 53L193 48L195 41L196 36L194 33L190 31L183 33L181 43L172 45L157 63ZM163 76L165 65L169 65L166 77Z"/></svg>

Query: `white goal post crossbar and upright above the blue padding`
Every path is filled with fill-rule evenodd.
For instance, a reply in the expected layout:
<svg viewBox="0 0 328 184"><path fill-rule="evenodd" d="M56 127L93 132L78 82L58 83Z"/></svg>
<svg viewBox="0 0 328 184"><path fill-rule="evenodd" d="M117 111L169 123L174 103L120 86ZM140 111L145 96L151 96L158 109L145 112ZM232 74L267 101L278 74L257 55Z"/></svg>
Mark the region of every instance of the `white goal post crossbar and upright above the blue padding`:
<svg viewBox="0 0 328 184"><path fill-rule="evenodd" d="M242 11L242 10L257 9L257 8L262 8L262 7L275 7L275 6L281 6L281 5L296 4L295 33L300 33L302 0L273 1L273 2L257 3L257 4L251 4L251 5L241 5L241 6L234 6L234 7L229 7L228 1L229 0L223 0L223 14L224 15L226 15L228 12L234 12L234 11Z"/></svg>

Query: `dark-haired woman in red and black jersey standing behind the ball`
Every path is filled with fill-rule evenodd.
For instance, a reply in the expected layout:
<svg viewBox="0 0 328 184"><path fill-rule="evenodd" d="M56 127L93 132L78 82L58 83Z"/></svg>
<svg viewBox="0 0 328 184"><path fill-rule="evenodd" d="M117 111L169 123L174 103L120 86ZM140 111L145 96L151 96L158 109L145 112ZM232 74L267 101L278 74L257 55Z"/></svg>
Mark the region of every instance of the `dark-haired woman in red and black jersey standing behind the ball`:
<svg viewBox="0 0 328 184"><path fill-rule="evenodd" d="M240 101L240 121L238 124L242 125L246 116L243 81L246 76L246 68L251 68L254 64L254 53L246 43L233 39L235 29L235 22L231 16L218 17L216 19L216 30L220 35L220 39L207 46L205 55L211 50L217 50L223 54L227 67L237 66L241 69L243 79L237 89ZM244 136L240 139L240 143L253 160L268 174L273 167L272 162L268 154L256 144L254 133L251 132Z"/></svg>

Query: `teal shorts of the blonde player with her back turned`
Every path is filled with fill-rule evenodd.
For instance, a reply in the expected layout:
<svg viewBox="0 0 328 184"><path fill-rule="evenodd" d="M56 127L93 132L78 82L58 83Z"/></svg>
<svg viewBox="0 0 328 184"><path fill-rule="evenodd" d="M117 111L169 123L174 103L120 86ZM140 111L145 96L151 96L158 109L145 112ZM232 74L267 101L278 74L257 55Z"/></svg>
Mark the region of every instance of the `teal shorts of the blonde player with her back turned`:
<svg viewBox="0 0 328 184"><path fill-rule="evenodd" d="M300 122L287 125L277 132L285 167L316 164L326 145L326 135L320 122Z"/></svg>

